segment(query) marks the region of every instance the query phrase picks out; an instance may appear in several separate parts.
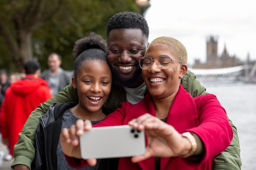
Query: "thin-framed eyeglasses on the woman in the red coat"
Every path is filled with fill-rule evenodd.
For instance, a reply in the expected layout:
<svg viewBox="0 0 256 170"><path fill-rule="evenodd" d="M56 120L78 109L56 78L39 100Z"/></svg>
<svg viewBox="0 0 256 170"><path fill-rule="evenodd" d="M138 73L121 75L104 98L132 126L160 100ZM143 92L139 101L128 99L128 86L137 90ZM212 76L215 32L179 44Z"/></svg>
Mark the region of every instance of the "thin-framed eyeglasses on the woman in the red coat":
<svg viewBox="0 0 256 170"><path fill-rule="evenodd" d="M152 60L151 57L140 57L139 66L142 69L148 70L149 68L151 68L153 61L156 61L158 68L162 70L170 68L172 62L178 62L171 59L171 57L169 56L160 56L160 57L157 57L157 60ZM180 62L180 63L184 64L184 62Z"/></svg>

